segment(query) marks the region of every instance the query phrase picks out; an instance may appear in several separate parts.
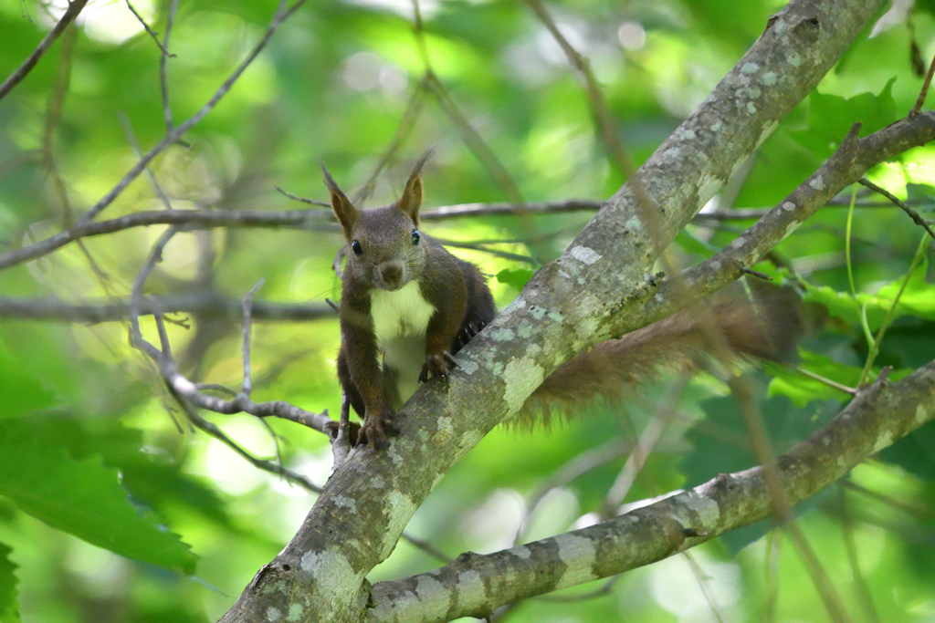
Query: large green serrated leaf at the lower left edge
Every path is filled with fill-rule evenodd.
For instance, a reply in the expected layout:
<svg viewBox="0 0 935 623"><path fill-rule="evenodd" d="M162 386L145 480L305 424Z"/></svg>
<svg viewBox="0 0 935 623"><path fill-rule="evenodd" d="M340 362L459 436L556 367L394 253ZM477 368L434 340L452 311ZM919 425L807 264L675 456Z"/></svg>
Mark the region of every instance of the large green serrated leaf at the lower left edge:
<svg viewBox="0 0 935 623"><path fill-rule="evenodd" d="M194 572L194 554L151 513L140 513L116 469L99 456L73 460L43 444L28 421L0 420L0 495L52 528L130 559Z"/></svg>

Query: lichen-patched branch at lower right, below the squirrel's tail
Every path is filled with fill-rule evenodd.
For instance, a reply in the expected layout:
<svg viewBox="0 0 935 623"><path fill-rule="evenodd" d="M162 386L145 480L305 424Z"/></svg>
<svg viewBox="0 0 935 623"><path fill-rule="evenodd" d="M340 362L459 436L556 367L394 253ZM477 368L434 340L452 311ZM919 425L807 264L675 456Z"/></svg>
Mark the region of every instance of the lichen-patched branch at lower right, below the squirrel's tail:
<svg viewBox="0 0 935 623"><path fill-rule="evenodd" d="M935 361L889 386L883 377L820 431L775 461L790 503L935 418ZM579 531L486 556L463 555L430 573L373 587L373 621L488 616L504 603L623 573L770 517L763 467L696 488Z"/></svg>

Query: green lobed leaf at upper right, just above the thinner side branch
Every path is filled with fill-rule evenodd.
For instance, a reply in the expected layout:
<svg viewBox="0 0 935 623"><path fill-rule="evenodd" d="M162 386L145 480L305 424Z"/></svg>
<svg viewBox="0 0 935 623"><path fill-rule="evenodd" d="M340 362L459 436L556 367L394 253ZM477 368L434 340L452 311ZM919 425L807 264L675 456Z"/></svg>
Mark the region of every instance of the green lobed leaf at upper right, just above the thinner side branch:
<svg viewBox="0 0 935 623"><path fill-rule="evenodd" d="M809 97L808 129L790 134L815 156L827 159L857 121L863 123L860 135L866 136L896 120L895 81L896 78L890 78L879 95L865 92L849 99L813 91Z"/></svg>

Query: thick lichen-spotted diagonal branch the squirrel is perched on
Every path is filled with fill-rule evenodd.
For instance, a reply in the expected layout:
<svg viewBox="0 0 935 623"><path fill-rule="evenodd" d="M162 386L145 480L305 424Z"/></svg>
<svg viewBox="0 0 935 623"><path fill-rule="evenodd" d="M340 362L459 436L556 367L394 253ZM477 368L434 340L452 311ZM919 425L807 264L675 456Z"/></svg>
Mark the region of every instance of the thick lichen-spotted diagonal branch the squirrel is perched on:
<svg viewBox="0 0 935 623"><path fill-rule="evenodd" d="M396 419L401 434L388 450L352 450L293 541L223 620L361 620L370 597L367 573L393 551L453 462L519 409L556 366L645 324L638 303L658 287L648 273L659 243L668 244L813 90L881 4L794 0L774 16L635 174L640 194L660 206L656 235L641 221L645 210L628 183L458 354L460 368L447 384L433 380L413 396Z"/></svg>

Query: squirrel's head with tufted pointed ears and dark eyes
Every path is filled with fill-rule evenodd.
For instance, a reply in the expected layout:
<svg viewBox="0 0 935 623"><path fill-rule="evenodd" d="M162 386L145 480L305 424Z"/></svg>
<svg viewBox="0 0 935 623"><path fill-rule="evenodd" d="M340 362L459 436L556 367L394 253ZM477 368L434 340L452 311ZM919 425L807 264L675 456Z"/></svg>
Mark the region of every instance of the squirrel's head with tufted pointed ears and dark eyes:
<svg viewBox="0 0 935 623"><path fill-rule="evenodd" d="M419 233L419 208L422 167L430 155L425 152L416 163L402 196L368 210L353 205L322 165L331 207L351 247L345 274L368 288L399 290L422 273L425 246Z"/></svg>

